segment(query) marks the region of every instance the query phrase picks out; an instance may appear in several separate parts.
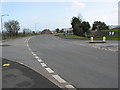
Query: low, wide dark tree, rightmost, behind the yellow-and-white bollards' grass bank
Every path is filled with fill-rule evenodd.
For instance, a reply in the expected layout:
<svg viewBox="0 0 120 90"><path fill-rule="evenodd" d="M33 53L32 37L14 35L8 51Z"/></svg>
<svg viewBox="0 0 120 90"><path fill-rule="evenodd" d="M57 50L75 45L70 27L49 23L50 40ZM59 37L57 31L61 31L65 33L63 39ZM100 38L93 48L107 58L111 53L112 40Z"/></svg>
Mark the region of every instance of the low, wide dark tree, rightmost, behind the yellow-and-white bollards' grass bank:
<svg viewBox="0 0 120 90"><path fill-rule="evenodd" d="M95 21L93 23L92 30L108 30L108 29L109 27L104 22Z"/></svg>

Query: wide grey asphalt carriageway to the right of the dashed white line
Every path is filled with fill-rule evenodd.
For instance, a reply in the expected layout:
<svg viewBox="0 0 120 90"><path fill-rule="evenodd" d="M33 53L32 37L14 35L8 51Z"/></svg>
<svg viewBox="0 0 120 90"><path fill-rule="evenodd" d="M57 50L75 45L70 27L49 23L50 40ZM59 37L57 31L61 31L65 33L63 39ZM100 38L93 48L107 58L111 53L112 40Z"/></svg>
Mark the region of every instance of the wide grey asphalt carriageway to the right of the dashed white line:
<svg viewBox="0 0 120 90"><path fill-rule="evenodd" d="M76 45L52 35L32 38L29 46L77 88L117 88L118 53Z"/></svg>

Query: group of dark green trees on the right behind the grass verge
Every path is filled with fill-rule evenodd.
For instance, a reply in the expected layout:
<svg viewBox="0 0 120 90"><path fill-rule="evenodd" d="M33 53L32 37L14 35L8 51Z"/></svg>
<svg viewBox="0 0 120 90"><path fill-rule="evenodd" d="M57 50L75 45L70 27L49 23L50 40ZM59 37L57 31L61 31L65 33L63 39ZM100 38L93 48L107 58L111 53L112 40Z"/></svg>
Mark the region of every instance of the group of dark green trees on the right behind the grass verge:
<svg viewBox="0 0 120 90"><path fill-rule="evenodd" d="M87 21L83 21L80 17L73 17L71 20L73 28L73 34L78 36L84 36L85 33L90 32L90 24ZM92 30L109 30L109 27L101 21L95 21L92 26Z"/></svg>

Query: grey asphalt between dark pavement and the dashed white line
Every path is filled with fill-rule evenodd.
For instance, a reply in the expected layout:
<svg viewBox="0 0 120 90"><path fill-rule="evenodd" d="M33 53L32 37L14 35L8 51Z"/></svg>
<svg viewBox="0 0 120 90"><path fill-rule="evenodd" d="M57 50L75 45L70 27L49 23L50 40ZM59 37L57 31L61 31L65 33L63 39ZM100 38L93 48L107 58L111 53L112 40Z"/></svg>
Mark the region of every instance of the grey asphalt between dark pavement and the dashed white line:
<svg viewBox="0 0 120 90"><path fill-rule="evenodd" d="M51 81L55 85L59 86L60 88L65 88L63 85L60 85L45 70L45 68L43 68L41 66L41 64L35 59L35 57L29 51L29 49L27 47L27 41L28 41L29 38L30 37L25 37L25 38L17 38L17 39L5 41L3 43L3 45L2 45L2 48L0 47L0 49L2 49L2 58L5 58L5 59L13 61L13 62L22 63L26 67L30 68L31 71L34 70L35 72L37 72L40 75L44 76L45 78L47 78L49 81ZM29 75L31 76L31 74L29 74ZM2 76L2 75L0 75L0 76ZM40 84L40 86L41 86L41 84ZM47 85L47 83L46 83L46 87L45 88L51 88L51 87L49 85ZM52 88L54 88L54 87L52 87Z"/></svg>

